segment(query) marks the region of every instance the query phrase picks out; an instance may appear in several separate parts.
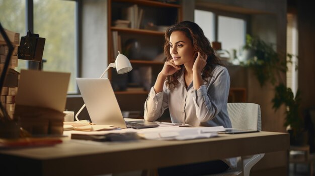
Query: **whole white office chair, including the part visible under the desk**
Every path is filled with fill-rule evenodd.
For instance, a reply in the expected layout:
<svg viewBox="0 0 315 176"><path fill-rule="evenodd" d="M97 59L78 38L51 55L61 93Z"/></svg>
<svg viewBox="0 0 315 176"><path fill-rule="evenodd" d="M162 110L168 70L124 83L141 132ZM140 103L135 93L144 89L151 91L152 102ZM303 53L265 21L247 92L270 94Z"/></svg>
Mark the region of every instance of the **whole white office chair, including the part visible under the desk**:
<svg viewBox="0 0 315 176"><path fill-rule="evenodd" d="M262 130L260 106L254 103L227 103L227 112L232 123L232 128ZM265 153L242 156L238 161L238 167L229 169L219 174L223 175L250 175L251 168L263 158ZM242 168L243 167L243 168Z"/></svg>

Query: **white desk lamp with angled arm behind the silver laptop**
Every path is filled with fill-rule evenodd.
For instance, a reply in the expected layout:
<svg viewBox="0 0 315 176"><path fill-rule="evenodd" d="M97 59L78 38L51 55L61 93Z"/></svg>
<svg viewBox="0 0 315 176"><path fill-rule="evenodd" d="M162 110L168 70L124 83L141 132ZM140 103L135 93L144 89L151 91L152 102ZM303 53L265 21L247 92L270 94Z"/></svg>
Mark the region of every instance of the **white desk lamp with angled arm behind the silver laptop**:
<svg viewBox="0 0 315 176"><path fill-rule="evenodd" d="M128 72L130 72L132 70L132 66L131 66L131 63L130 63L129 59L125 55L120 54L119 51L118 51L118 56L116 57L115 63L110 63L108 65L107 69L100 76L100 78L102 78L105 75L105 73L107 72L107 70L110 67L116 68L116 71L117 71L118 74L128 73ZM81 107L81 109L75 114L76 121L79 121L77 116L81 113L81 111L83 110L84 107L86 107L86 104L84 104Z"/></svg>

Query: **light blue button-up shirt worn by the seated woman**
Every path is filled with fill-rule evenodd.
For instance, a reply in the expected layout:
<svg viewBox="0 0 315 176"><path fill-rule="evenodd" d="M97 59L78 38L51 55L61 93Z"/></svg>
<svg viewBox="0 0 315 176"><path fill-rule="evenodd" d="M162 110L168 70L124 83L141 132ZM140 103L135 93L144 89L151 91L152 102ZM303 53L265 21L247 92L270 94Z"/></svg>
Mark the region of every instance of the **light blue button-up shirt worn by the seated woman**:
<svg viewBox="0 0 315 176"><path fill-rule="evenodd" d="M194 89L193 83L186 88L184 69L174 89L167 89L164 84L163 91L155 93L152 87L144 105L145 120L155 121L169 108L173 123L231 128L227 114L228 71L216 66L211 75L198 90Z"/></svg>

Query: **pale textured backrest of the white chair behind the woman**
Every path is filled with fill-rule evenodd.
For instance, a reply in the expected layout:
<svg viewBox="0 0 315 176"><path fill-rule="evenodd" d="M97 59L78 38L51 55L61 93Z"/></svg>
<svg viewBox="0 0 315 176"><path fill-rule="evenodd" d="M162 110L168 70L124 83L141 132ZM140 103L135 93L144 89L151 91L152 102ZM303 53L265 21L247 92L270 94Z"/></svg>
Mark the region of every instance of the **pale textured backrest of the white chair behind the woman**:
<svg viewBox="0 0 315 176"><path fill-rule="evenodd" d="M262 130L260 106L255 103L227 103L232 128Z"/></svg>

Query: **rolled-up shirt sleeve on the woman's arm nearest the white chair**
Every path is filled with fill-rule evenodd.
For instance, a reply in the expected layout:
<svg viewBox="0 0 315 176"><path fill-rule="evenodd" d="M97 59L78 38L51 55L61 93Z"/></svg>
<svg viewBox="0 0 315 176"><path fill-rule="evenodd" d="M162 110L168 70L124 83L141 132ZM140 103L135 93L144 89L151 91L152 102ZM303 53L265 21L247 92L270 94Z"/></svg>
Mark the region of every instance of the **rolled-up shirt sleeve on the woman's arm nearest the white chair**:
<svg viewBox="0 0 315 176"><path fill-rule="evenodd" d="M213 75L214 81L191 91L196 107L196 116L201 122L212 120L227 103L230 78L226 68Z"/></svg>

